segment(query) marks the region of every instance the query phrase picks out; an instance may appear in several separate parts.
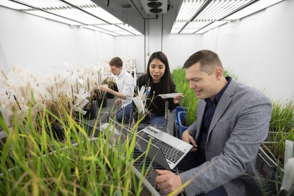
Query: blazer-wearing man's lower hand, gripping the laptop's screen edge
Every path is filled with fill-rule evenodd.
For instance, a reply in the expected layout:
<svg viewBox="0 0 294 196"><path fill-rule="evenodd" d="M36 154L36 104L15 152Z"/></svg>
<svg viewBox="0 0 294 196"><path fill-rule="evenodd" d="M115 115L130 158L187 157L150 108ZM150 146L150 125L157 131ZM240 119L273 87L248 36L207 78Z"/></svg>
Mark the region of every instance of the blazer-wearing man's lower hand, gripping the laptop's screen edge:
<svg viewBox="0 0 294 196"><path fill-rule="evenodd" d="M173 191L183 186L181 177L167 170L155 170L158 176L155 177L157 187L165 196L169 195ZM177 196L180 192L183 192L184 188L177 191L174 196Z"/></svg>

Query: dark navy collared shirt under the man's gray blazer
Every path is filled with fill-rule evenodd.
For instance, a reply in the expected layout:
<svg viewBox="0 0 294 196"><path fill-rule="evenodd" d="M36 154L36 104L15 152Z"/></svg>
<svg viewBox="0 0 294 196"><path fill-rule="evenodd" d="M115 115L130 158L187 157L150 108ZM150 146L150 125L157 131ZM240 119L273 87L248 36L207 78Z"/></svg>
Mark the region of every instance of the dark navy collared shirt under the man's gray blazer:
<svg viewBox="0 0 294 196"><path fill-rule="evenodd" d="M223 92L225 91L225 89L227 88L227 86L229 85L229 83L232 80L231 77L225 77L225 79L228 82L226 83L226 85L223 87L223 89L221 89L221 91L216 95L216 97L213 100L211 100L210 98L204 99L204 101L206 102L206 107L205 107L205 111L204 111L203 120L201 123L200 145L197 145L198 150L199 150L199 155L200 155L199 158L201 159L200 164L206 162L205 146L206 146L206 141L207 141L207 136L208 136L208 130L209 130L213 115L214 115L216 108L218 106L218 103L221 99L221 95L223 94Z"/></svg>

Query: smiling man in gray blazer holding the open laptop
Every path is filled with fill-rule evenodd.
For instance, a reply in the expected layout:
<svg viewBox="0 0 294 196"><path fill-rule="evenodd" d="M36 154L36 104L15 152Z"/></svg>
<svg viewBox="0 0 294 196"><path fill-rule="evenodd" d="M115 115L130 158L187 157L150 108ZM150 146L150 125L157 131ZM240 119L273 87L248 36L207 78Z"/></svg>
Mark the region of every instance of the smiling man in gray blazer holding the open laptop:
<svg viewBox="0 0 294 196"><path fill-rule="evenodd" d="M194 53L184 69L199 98L197 120L182 134L182 140L194 148L178 165L185 171L179 176L156 170L157 187L165 195L189 183L181 189L188 196L261 196L254 166L268 135L270 99L224 77L221 60L213 51Z"/></svg>

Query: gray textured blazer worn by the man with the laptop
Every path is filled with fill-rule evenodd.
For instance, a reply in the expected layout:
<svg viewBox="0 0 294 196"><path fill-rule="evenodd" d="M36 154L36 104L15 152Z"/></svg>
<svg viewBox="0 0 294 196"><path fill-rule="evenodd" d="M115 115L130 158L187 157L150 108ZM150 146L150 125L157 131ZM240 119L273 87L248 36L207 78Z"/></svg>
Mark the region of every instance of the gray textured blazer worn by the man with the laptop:
<svg viewBox="0 0 294 196"><path fill-rule="evenodd" d="M188 130L200 140L199 130L206 103L199 99L197 120ZM255 160L267 138L271 101L260 91L232 78L223 92L209 127L206 162L180 174L188 196L207 193L221 185L228 196L262 195L251 176L257 176ZM191 163L193 164L193 163Z"/></svg>

